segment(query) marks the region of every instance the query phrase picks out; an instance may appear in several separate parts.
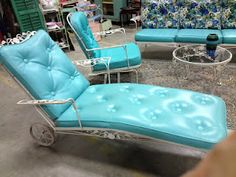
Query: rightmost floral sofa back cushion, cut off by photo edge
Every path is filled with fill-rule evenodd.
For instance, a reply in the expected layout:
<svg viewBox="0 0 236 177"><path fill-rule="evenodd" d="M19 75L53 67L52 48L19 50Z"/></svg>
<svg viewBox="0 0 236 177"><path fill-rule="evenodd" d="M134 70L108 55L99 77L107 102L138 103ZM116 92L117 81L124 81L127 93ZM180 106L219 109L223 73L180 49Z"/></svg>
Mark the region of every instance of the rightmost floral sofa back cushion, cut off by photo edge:
<svg viewBox="0 0 236 177"><path fill-rule="evenodd" d="M222 28L236 28L236 1L222 0Z"/></svg>

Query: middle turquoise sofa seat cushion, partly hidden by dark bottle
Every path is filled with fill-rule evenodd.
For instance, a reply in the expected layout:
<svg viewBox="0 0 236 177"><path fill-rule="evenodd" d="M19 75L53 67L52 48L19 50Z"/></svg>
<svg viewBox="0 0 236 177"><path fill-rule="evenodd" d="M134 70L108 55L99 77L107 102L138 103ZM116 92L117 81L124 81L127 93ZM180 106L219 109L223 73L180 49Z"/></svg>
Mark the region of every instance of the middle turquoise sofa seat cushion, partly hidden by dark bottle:
<svg viewBox="0 0 236 177"><path fill-rule="evenodd" d="M214 29L181 29L177 33L176 42L205 44L209 34L217 34L219 37L218 43L222 43L221 31Z"/></svg>

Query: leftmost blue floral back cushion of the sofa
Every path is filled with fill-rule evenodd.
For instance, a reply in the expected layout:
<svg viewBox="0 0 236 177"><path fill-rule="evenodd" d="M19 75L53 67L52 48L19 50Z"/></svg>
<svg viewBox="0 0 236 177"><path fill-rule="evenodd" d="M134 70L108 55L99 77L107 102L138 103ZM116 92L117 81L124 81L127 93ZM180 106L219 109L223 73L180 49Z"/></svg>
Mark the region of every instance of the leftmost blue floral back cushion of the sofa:
<svg viewBox="0 0 236 177"><path fill-rule="evenodd" d="M178 28L178 6L172 0L144 1L142 6L143 28Z"/></svg>

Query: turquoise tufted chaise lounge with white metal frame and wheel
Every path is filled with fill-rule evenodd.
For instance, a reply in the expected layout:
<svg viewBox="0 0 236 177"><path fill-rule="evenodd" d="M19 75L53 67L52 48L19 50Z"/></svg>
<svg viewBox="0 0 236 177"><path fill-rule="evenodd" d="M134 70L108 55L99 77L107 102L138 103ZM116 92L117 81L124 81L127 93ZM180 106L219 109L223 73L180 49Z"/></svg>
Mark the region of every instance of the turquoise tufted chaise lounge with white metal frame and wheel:
<svg viewBox="0 0 236 177"><path fill-rule="evenodd" d="M43 31L0 48L3 66L30 93L45 124L31 135L44 146L55 133L110 139L159 139L209 149L227 136L226 107L216 96L144 84L91 85Z"/></svg>

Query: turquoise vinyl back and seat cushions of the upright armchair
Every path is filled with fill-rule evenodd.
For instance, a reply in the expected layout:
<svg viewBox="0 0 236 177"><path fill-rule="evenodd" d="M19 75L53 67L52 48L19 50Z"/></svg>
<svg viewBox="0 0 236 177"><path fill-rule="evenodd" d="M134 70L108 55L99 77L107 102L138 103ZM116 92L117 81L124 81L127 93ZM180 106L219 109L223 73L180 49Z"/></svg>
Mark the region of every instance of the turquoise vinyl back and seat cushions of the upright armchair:
<svg viewBox="0 0 236 177"><path fill-rule="evenodd" d="M82 12L74 12L71 14L70 23L75 29L76 33L79 35L87 49L99 48L93 33L88 24L87 17ZM101 50L96 50L91 52L91 56L88 55L84 45L77 37L78 42L82 50L84 51L87 58L101 58L101 57L111 57L110 69L125 68L129 66L139 66L141 64L141 54L138 46L134 43L124 44L127 48L126 52L123 47L106 48ZM129 61L128 61L129 60ZM94 71L106 70L106 65L98 64L93 66Z"/></svg>

